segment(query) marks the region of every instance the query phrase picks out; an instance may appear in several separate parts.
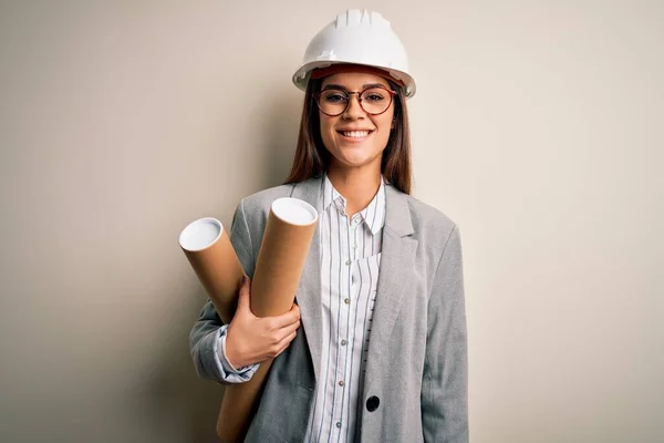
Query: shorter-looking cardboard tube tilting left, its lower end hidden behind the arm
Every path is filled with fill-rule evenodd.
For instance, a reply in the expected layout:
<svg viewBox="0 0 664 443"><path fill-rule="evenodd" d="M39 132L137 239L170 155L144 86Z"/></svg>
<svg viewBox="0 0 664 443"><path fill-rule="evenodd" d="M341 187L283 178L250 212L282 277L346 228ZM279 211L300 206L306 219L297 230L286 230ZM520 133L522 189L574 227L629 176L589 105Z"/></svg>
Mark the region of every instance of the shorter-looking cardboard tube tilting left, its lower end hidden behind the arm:
<svg viewBox="0 0 664 443"><path fill-rule="evenodd" d="M179 245L217 313L226 324L230 323L245 271L224 225L215 218L199 218L183 229Z"/></svg>

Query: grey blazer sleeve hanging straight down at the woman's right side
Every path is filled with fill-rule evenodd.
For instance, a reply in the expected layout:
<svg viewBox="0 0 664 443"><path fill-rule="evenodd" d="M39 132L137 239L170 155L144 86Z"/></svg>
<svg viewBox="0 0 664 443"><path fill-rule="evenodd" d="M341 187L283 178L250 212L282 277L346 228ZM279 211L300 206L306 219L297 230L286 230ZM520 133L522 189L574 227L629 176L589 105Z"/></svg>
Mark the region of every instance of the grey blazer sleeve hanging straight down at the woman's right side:
<svg viewBox="0 0 664 443"><path fill-rule="evenodd" d="M468 442L467 361L461 241L454 226L428 301L421 399L425 442Z"/></svg>

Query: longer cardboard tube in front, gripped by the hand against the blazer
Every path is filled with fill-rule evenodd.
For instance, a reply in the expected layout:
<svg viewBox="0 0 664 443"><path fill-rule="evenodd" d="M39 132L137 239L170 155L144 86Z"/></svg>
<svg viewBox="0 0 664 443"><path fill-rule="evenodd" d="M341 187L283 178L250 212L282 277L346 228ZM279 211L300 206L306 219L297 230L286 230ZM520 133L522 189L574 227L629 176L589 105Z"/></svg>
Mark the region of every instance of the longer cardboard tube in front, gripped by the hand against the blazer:
<svg viewBox="0 0 664 443"><path fill-rule="evenodd" d="M272 203L251 282L255 316L279 316L292 308L317 223L318 212L305 202L279 198ZM222 443L243 441L271 364L272 359L266 360L251 380L226 387L217 421Z"/></svg>

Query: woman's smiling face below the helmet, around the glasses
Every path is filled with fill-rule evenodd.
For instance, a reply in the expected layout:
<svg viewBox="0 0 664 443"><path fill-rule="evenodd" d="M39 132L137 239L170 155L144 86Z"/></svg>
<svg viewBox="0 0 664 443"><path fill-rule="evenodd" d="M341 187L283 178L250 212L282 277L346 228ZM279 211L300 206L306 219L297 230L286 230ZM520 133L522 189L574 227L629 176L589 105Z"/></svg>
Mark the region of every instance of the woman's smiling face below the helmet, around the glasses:
<svg viewBox="0 0 664 443"><path fill-rule="evenodd" d="M344 90L347 92L362 92L372 85L382 85L392 90L390 83L378 76L367 73L339 73L323 79L323 94L329 89ZM378 90L376 90L378 91ZM342 96L329 96L330 103L339 101ZM384 92L365 96L364 106L370 110L381 100L390 101L390 94ZM342 106L343 107L343 106ZM371 110L370 110L371 111ZM338 116L330 116L319 110L321 120L321 137L331 154L330 167L370 167L381 169L383 150L387 146L390 132L393 126L394 100L387 111L380 115L367 114L360 106L359 94L350 95L347 109Z"/></svg>

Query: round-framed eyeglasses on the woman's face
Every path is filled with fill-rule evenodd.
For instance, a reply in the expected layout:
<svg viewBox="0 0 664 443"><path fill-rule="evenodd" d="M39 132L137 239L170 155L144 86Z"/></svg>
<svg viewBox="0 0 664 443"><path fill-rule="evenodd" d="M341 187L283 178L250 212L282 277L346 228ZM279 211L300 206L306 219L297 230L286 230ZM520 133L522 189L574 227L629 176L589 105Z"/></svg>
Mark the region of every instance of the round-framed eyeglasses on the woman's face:
<svg viewBox="0 0 664 443"><path fill-rule="evenodd" d="M313 94L319 110L325 115L335 117L343 114L351 104L351 95L357 94L360 107L370 115L380 115L390 109L396 92L383 86L372 86L361 92L349 92L326 89Z"/></svg>

